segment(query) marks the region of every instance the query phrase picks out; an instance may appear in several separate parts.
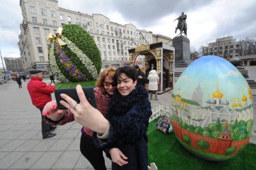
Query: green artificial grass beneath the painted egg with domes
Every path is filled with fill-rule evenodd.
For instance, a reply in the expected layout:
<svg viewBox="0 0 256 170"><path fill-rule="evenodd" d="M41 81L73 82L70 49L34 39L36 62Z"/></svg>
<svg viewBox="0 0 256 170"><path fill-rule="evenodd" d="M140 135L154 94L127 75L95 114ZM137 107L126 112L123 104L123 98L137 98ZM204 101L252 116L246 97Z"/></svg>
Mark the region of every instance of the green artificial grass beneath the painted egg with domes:
<svg viewBox="0 0 256 170"><path fill-rule="evenodd" d="M187 151L174 133L165 135L156 130L154 120L148 126L148 165L156 163L159 170L168 169L256 169L256 145L248 144L237 156L221 162L200 159Z"/></svg>

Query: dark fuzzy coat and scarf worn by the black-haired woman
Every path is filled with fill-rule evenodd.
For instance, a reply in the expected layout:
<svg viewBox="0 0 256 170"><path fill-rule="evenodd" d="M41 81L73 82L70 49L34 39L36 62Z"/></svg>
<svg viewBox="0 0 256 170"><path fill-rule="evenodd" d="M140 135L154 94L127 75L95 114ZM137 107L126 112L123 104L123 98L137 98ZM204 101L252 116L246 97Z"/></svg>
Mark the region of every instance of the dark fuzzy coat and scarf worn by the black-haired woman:
<svg viewBox="0 0 256 170"><path fill-rule="evenodd" d="M117 147L128 157L127 165L112 163L112 169L148 169L147 127L151 116L151 104L144 87L136 87L128 96L116 90L109 103L109 139L101 143L94 134L96 147L104 148L111 158L109 149Z"/></svg>

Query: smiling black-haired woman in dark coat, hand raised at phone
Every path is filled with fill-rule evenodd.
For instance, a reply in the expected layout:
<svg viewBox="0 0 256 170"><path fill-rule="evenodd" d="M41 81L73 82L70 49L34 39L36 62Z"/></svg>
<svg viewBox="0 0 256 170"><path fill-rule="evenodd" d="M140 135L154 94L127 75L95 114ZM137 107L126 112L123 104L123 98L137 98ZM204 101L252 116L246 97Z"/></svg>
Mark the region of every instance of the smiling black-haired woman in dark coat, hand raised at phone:
<svg viewBox="0 0 256 170"><path fill-rule="evenodd" d="M112 169L148 169L147 127L152 112L145 88L135 88L136 77L133 67L117 69L117 90L106 118L88 103L81 85L76 87L80 103L61 94L65 100L61 100L61 105L74 114L75 120L97 132L94 144L111 157Z"/></svg>

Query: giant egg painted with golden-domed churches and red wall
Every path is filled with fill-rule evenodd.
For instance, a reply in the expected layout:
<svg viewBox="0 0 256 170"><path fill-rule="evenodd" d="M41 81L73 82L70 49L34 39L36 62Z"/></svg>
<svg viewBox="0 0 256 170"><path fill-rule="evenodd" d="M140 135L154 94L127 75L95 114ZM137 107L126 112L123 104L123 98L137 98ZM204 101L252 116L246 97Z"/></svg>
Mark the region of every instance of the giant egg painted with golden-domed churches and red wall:
<svg viewBox="0 0 256 170"><path fill-rule="evenodd" d="M252 92L230 62L203 56L187 67L171 96L178 141L206 160L227 160L248 144L253 129Z"/></svg>

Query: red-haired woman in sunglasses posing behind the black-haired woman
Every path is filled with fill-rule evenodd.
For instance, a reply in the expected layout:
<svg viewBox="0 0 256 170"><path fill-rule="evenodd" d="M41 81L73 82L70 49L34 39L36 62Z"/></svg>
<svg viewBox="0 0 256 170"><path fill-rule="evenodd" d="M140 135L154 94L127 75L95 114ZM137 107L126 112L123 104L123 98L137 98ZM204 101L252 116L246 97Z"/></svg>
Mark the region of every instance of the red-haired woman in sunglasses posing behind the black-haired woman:
<svg viewBox="0 0 256 170"><path fill-rule="evenodd" d="M103 117L107 114L110 97L117 88L117 84L114 83L115 70L117 68L106 68L97 80L96 88L94 88L97 109L102 113ZM75 120L71 112L57 109L56 100L47 103L44 107L43 115L47 117L46 122L52 125L63 125ZM81 132L81 153L89 160L94 169L106 169L103 150L96 148L93 144L93 131L84 126Z"/></svg>

